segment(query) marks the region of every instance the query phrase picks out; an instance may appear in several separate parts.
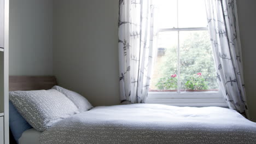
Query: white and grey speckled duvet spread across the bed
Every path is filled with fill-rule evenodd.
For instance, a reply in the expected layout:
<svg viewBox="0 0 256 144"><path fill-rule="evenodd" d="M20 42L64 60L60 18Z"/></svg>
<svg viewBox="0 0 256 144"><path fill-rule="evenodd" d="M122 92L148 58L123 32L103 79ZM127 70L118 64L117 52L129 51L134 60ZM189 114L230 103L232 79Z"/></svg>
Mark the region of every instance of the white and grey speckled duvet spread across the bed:
<svg viewBox="0 0 256 144"><path fill-rule="evenodd" d="M55 123L40 143L256 143L256 123L221 107L98 106Z"/></svg>

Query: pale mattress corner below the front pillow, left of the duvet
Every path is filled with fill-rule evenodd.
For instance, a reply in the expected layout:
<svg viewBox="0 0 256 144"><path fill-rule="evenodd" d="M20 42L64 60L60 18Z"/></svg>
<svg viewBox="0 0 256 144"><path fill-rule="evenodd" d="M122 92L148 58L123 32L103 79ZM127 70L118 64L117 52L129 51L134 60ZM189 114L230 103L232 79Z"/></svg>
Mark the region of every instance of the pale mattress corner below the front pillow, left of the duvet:
<svg viewBox="0 0 256 144"><path fill-rule="evenodd" d="M35 129L28 129L24 131L19 139L19 144L40 144L39 135L41 132Z"/></svg>

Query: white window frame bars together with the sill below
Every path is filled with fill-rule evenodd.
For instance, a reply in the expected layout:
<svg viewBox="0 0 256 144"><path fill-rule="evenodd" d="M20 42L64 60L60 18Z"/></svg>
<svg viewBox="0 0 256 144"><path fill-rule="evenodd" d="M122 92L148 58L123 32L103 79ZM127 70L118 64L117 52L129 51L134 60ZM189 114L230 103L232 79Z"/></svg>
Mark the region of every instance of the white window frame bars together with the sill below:
<svg viewBox="0 0 256 144"><path fill-rule="evenodd" d="M177 16L178 18L178 16ZM178 27L178 26L177 26ZM228 107L220 91L208 92L181 92L180 91L180 57L179 57L179 32L180 31L208 31L207 27L187 27L187 28L160 28L159 32L176 31L178 33L178 88L177 92L148 92L146 103L149 104L166 104L174 106L220 106Z"/></svg>

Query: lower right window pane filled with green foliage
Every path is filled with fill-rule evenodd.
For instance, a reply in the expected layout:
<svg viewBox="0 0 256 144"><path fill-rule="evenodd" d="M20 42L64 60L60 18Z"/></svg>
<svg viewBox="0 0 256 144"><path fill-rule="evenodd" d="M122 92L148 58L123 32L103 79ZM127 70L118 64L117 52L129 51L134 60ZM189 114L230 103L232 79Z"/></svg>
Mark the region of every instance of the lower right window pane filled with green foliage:
<svg viewBox="0 0 256 144"><path fill-rule="evenodd" d="M208 31L182 31L179 35L181 91L218 91Z"/></svg>

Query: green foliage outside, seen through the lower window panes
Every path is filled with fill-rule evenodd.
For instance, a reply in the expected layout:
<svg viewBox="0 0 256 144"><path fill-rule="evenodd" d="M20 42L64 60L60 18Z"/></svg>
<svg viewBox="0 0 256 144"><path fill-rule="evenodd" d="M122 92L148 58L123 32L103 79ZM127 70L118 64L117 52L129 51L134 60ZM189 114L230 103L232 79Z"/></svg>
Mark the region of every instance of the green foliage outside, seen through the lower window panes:
<svg viewBox="0 0 256 144"><path fill-rule="evenodd" d="M207 31L193 32L179 48L181 89L217 89L211 41ZM158 89L177 89L177 48L166 49L159 65ZM198 75L200 73L200 75Z"/></svg>

